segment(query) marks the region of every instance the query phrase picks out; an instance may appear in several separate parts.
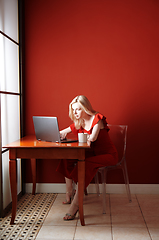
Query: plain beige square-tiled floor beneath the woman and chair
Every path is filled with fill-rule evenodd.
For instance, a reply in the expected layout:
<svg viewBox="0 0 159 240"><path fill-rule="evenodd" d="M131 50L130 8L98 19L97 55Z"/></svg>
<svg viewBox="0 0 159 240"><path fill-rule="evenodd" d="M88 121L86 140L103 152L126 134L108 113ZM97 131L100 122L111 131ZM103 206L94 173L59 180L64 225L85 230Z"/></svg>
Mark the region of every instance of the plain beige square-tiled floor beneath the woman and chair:
<svg viewBox="0 0 159 240"><path fill-rule="evenodd" d="M37 240L159 240L159 195L107 194L107 213L102 214L102 196L84 197L85 226L78 216L63 221L68 205L64 194L58 194Z"/></svg>

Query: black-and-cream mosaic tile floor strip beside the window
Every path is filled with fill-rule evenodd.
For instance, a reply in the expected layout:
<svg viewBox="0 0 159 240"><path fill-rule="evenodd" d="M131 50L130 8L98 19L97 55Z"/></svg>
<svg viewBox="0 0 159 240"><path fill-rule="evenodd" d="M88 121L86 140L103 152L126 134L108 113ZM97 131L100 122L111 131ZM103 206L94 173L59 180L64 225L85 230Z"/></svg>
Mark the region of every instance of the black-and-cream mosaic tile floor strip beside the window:
<svg viewBox="0 0 159 240"><path fill-rule="evenodd" d="M57 197L56 193L25 194L18 201L15 224L10 225L11 212L0 218L1 240L33 240Z"/></svg>

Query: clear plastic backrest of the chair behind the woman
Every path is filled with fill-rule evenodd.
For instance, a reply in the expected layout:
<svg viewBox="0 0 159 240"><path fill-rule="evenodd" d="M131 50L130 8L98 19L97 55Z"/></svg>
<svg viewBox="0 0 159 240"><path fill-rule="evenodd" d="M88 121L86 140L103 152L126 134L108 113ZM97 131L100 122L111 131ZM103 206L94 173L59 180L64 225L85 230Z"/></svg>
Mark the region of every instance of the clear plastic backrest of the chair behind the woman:
<svg viewBox="0 0 159 240"><path fill-rule="evenodd" d="M118 151L120 163L125 159L128 126L108 124L108 127L110 128L109 136Z"/></svg>

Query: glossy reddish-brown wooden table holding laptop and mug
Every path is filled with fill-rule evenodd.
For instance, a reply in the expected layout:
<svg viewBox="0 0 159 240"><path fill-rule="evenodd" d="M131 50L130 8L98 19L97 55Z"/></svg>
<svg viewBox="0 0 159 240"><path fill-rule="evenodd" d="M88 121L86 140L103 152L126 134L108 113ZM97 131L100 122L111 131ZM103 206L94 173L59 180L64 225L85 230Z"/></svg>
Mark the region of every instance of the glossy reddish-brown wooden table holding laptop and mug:
<svg viewBox="0 0 159 240"><path fill-rule="evenodd" d="M53 143L37 141L35 136L26 136L4 146L9 149L9 174L12 194L12 218L14 224L17 209L17 167L16 159L31 159L33 191L36 188L36 159L77 159L78 160L78 200L81 225L84 226L83 195L85 182L85 150L90 148L87 143Z"/></svg>

